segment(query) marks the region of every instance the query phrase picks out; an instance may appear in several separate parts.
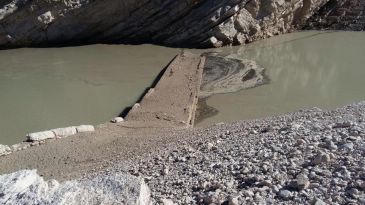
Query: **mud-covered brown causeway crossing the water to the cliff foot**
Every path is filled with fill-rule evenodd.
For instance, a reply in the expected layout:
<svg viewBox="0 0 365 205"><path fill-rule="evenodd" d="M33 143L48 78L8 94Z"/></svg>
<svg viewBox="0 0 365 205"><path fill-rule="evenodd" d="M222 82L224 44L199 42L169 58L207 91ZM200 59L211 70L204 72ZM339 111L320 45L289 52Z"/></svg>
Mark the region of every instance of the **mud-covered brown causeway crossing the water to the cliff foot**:
<svg viewBox="0 0 365 205"><path fill-rule="evenodd" d="M126 128L192 127L205 57L182 53L165 69L158 83L136 103L122 123Z"/></svg>

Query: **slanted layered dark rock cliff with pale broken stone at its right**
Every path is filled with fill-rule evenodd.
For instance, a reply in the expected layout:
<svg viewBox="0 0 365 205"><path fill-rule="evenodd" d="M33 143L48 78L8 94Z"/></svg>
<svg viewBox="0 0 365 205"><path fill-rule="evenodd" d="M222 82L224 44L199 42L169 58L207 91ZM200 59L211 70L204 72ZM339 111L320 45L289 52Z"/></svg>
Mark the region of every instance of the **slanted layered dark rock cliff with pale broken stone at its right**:
<svg viewBox="0 0 365 205"><path fill-rule="evenodd" d="M243 44L301 27L328 2L3 0L0 46L100 42L178 47Z"/></svg>

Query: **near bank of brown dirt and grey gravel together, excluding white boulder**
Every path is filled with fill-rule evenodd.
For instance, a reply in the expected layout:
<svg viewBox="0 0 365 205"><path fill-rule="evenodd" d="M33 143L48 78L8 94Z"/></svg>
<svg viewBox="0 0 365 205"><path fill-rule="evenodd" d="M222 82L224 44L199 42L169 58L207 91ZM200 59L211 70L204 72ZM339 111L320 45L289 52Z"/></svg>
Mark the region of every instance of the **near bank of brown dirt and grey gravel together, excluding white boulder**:
<svg viewBox="0 0 365 205"><path fill-rule="evenodd" d="M149 135L114 129L2 157L0 171L34 167L61 180L129 172L165 205L365 204L365 102Z"/></svg>

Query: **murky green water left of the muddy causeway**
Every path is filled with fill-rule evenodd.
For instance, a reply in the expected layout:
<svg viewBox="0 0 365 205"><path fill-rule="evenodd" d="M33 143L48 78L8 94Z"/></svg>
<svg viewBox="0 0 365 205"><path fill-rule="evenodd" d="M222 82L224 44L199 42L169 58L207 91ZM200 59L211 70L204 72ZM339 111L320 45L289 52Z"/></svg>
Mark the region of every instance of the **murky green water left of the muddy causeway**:
<svg viewBox="0 0 365 205"><path fill-rule="evenodd" d="M117 116L178 52L150 45L0 51L0 144Z"/></svg>

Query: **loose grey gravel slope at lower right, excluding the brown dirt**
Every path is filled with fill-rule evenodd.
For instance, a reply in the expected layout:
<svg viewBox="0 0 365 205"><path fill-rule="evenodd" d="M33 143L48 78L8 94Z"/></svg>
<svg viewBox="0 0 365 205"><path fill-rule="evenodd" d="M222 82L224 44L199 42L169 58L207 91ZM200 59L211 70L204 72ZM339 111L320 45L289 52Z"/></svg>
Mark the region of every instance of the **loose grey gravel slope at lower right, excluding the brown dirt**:
<svg viewBox="0 0 365 205"><path fill-rule="evenodd" d="M365 102L186 135L127 167L158 203L365 203ZM115 162L109 171L123 169Z"/></svg>

